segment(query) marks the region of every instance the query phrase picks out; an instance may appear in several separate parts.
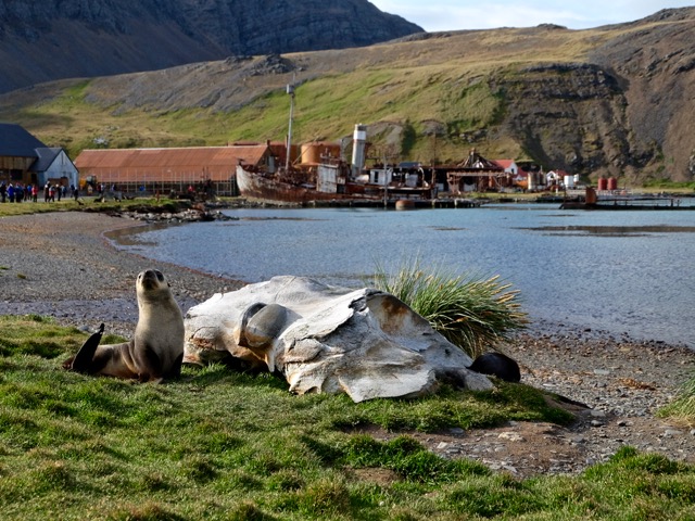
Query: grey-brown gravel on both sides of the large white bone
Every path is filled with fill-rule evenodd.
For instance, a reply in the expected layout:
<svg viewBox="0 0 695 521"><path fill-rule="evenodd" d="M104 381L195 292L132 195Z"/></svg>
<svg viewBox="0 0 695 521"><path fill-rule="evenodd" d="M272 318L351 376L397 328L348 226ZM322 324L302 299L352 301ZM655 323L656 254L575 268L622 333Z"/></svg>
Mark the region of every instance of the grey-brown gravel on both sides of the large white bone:
<svg viewBox="0 0 695 521"><path fill-rule="evenodd" d="M104 322L108 332L128 338L137 321L135 278L142 269L161 269L184 310L243 285L117 251L104 238L134 226L142 224L100 213L1 218L0 315L48 315L86 331ZM624 445L695 462L695 430L658 416L693 376L695 353L686 346L538 323L503 351L519 361L522 383L560 396L557 404L577 421L408 434L445 458L477 459L516 476L578 473ZM370 432L379 439L401 434Z"/></svg>

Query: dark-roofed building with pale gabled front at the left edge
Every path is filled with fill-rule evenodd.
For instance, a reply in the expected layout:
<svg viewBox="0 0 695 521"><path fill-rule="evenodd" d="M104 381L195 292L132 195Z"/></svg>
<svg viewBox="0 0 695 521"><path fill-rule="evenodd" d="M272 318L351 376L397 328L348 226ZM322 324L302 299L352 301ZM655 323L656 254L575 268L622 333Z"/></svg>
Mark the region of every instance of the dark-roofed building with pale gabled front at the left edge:
<svg viewBox="0 0 695 521"><path fill-rule="evenodd" d="M0 182L70 187L78 173L63 149L46 147L20 125L0 123Z"/></svg>

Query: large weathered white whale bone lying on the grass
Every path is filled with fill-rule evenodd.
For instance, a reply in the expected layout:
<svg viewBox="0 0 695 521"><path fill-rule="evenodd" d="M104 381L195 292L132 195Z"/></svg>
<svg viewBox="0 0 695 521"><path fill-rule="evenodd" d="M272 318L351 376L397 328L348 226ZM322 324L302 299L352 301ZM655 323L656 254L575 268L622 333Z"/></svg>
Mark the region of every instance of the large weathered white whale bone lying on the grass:
<svg viewBox="0 0 695 521"><path fill-rule="evenodd" d="M282 276L217 293L185 317L184 361L231 355L278 372L290 391L344 392L354 402L415 397L446 381L492 389L472 360L402 301L382 291Z"/></svg>

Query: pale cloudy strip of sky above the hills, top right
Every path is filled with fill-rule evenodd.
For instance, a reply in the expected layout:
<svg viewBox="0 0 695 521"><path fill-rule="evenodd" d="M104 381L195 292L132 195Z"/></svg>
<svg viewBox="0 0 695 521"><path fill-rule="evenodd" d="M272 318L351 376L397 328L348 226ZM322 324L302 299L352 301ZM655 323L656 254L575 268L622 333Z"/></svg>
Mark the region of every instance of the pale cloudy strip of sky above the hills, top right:
<svg viewBox="0 0 695 521"><path fill-rule="evenodd" d="M695 5L658 0L370 0L428 31L533 27L557 24L570 29L633 22L667 8Z"/></svg>

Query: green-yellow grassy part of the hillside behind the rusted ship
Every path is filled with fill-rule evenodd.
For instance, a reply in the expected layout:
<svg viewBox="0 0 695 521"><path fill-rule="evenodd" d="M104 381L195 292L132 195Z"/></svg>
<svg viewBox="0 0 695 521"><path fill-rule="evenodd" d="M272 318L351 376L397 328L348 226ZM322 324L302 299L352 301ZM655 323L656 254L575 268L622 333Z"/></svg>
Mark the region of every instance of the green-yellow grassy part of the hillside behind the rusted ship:
<svg viewBox="0 0 695 521"><path fill-rule="evenodd" d="M582 60L586 41L597 35L540 33L464 31L368 49L291 54L288 59L304 71L264 75L263 81L251 78L236 110L217 111L187 101L200 92L162 92L152 99L142 91L125 90L126 85L157 74L144 73L46 84L37 89L38 96L21 92L18 103L12 103L17 94L7 94L0 98L0 118L22 124L47 144L65 147L73 156L81 149L97 148L94 140L106 140L110 148L129 148L282 139L289 114L285 86L294 78L300 84L293 127L298 140L338 139L350 135L356 123L380 122L409 122L419 135L428 122L438 122L445 129L438 143L443 157L460 158L467 150L453 143L451 136L492 125L504 110L503 100L483 80L485 76L534 63L540 51L552 52L545 54L552 61ZM557 42L559 35L565 35L561 43ZM519 40L527 41L526 46L519 47ZM195 76L214 73L214 64L202 64ZM220 96L225 87L231 89L223 85ZM210 85L194 86L197 91L203 88ZM143 101L134 101L138 96ZM172 97L179 100L169 104ZM427 160L419 157L432 147L427 141L418 140L409 158Z"/></svg>

